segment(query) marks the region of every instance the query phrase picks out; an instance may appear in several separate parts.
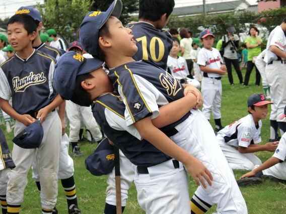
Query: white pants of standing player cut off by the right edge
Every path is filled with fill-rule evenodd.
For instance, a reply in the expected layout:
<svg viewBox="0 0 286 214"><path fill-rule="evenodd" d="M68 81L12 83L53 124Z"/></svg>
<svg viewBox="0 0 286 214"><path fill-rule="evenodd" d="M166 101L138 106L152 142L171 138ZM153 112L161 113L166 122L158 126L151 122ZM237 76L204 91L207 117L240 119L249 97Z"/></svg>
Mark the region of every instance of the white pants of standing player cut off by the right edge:
<svg viewBox="0 0 286 214"><path fill-rule="evenodd" d="M286 65L274 60L272 64L266 65L265 76L271 87L271 101L274 103L271 105L270 120L286 122L286 118L279 119L284 114L286 105Z"/></svg>

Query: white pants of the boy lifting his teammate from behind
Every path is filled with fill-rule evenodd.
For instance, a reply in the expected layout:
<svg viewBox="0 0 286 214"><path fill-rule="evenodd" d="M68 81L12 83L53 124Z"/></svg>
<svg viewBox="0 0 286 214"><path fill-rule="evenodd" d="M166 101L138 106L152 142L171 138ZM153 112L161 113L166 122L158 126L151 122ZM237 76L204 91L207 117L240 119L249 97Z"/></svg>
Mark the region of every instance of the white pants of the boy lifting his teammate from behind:
<svg viewBox="0 0 286 214"><path fill-rule="evenodd" d="M147 214L191 213L188 175L182 163L175 169L172 160L165 161L148 167L150 174L139 174L132 166L138 203Z"/></svg>

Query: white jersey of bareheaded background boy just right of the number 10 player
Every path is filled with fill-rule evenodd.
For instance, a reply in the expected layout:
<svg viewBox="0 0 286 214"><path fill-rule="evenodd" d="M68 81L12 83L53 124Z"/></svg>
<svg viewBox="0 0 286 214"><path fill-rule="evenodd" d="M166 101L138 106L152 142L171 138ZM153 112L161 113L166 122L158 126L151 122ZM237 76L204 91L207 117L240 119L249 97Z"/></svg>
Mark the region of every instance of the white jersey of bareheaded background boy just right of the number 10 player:
<svg viewBox="0 0 286 214"><path fill-rule="evenodd" d="M187 62L181 56L178 56L177 59L168 56L167 66L170 69L172 76L176 79L185 79L187 78L187 75L189 75Z"/></svg>

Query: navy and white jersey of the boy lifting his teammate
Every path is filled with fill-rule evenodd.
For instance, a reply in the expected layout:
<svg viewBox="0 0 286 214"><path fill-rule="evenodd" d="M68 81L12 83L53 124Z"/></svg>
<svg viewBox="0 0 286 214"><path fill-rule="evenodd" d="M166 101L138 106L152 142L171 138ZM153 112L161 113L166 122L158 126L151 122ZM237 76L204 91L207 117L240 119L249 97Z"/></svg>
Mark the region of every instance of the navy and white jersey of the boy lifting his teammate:
<svg viewBox="0 0 286 214"><path fill-rule="evenodd" d="M117 93L107 93L92 104L93 116L109 140L136 166L155 166L171 157L142 140L134 126L126 126L125 105Z"/></svg>

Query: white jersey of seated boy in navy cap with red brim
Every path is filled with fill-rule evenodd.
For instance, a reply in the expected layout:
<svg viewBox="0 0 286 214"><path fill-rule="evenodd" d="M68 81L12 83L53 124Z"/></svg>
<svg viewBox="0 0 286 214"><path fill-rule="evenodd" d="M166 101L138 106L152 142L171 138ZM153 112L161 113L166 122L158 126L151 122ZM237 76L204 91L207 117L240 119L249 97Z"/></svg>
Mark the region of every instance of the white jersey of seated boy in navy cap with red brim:
<svg viewBox="0 0 286 214"><path fill-rule="evenodd" d="M225 139L225 142L231 146L248 147L250 144L261 142L261 120L258 121L256 127L251 114L226 126L218 135Z"/></svg>

